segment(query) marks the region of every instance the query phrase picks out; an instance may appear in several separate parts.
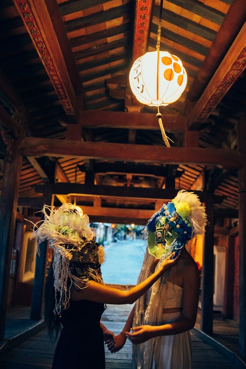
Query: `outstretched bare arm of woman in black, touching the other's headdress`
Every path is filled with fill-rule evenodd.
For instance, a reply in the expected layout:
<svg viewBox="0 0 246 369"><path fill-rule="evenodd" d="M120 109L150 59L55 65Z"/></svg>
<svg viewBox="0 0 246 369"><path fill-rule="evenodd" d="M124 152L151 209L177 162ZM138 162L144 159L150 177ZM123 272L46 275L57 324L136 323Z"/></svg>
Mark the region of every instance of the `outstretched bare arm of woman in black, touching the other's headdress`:
<svg viewBox="0 0 246 369"><path fill-rule="evenodd" d="M137 284L129 291L118 290L117 288L108 287L91 280L86 287L81 286L81 290L71 288L71 299L75 301L89 300L105 304L132 304L142 296L164 272L175 264L176 259L172 259L173 255L174 253L167 257L153 275L140 284Z"/></svg>

